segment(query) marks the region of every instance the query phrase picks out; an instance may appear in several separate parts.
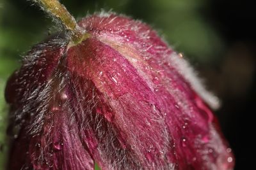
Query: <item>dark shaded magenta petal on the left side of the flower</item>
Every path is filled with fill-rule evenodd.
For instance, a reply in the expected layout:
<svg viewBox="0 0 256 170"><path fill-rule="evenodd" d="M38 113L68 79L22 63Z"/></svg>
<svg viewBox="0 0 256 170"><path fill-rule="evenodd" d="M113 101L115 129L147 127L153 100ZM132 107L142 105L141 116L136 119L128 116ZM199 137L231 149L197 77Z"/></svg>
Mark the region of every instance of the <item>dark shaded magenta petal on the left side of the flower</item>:
<svg viewBox="0 0 256 170"><path fill-rule="evenodd" d="M65 46L64 39L38 45L29 54L35 59L24 60L8 81L13 128L20 129L14 135L9 169L94 168L68 101Z"/></svg>

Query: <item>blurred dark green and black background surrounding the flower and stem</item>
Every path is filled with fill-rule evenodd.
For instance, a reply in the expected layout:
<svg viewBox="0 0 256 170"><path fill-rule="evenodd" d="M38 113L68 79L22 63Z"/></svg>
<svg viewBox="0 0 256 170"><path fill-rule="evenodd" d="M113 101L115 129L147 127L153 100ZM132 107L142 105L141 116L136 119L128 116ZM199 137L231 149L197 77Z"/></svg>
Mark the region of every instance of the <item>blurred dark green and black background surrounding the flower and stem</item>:
<svg viewBox="0 0 256 170"><path fill-rule="evenodd" d="M255 10L244 1L221 0L73 0L61 1L79 20L104 9L152 25L196 67L208 89L223 101L217 111L223 133L236 154L236 169L250 167L255 144L244 132L253 129L255 103ZM0 169L8 141L4 85L22 55L56 31L31 1L0 0ZM248 134L252 135L252 134ZM251 144L251 145L250 145ZM248 168L247 168L248 169Z"/></svg>

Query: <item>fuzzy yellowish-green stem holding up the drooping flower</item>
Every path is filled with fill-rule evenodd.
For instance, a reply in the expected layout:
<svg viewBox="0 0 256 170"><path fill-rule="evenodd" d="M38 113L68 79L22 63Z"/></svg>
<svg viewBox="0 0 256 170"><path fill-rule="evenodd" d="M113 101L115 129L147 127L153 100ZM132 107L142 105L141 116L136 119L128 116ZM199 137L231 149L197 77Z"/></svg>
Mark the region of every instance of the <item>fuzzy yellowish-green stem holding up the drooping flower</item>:
<svg viewBox="0 0 256 170"><path fill-rule="evenodd" d="M71 32L71 41L74 44L77 44L83 41L84 38L89 36L88 33L85 33L77 22L75 18L68 12L68 10L61 4L58 0L34 0L36 3L39 3L42 8L47 11L50 15L55 18L58 18L60 22L65 25L67 31Z"/></svg>

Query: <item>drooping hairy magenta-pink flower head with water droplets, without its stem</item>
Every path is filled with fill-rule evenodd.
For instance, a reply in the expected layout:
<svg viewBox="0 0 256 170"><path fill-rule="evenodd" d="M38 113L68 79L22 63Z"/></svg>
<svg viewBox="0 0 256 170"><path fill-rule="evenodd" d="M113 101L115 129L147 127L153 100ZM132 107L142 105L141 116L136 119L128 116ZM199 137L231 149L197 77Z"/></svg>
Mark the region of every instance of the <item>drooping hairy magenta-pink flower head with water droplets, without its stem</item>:
<svg viewBox="0 0 256 170"><path fill-rule="evenodd" d="M89 38L36 45L8 81L9 169L233 168L218 100L155 31L109 13L79 25Z"/></svg>

